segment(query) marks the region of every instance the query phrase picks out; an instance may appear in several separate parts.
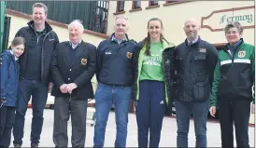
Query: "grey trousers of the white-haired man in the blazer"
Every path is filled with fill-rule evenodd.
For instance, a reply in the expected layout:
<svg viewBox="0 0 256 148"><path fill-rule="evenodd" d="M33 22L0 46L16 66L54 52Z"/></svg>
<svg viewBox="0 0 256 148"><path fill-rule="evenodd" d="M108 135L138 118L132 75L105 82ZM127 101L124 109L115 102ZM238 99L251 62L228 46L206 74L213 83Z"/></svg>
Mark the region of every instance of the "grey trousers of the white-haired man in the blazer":
<svg viewBox="0 0 256 148"><path fill-rule="evenodd" d="M56 97L54 100L53 142L56 147L67 147L67 121L71 115L72 147L84 147L86 137L87 100Z"/></svg>

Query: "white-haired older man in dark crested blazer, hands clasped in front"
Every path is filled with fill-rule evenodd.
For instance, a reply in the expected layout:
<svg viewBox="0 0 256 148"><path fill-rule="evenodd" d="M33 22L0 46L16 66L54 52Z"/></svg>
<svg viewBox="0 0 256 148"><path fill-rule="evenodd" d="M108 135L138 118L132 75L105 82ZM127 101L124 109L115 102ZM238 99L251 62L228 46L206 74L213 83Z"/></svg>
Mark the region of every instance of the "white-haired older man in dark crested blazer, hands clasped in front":
<svg viewBox="0 0 256 148"><path fill-rule="evenodd" d="M55 96L53 142L67 147L67 121L71 115L72 147L84 147L87 99L93 98L91 79L96 68L96 47L82 41L83 25L74 20L68 25L69 40L57 45L51 70Z"/></svg>

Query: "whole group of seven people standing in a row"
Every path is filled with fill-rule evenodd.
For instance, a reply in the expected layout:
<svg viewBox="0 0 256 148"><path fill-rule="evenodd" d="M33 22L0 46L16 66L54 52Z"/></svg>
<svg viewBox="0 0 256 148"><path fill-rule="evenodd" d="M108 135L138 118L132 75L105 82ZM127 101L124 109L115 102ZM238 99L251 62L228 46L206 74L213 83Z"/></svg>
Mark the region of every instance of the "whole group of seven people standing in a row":
<svg viewBox="0 0 256 148"><path fill-rule="evenodd" d="M239 22L224 28L228 44L220 51L199 36L198 20L184 23L187 38L175 46L163 35L163 22L148 21L148 34L136 43L126 34L128 19L117 17L114 33L96 48L82 40L83 25L68 25L69 41L59 43L42 3L33 20L16 34L1 62L0 147L21 147L27 104L32 98L31 147L38 147L48 93L55 96L53 142L67 147L71 116L72 147L84 147L87 100L95 99L94 147L103 147L114 105L115 147L125 147L130 102L135 99L138 147L158 147L164 114L175 102L177 146L188 147L190 118L196 147L206 147L207 114L220 114L221 145L249 147L249 114L254 113L255 48L243 41ZM91 79L96 74L95 95ZM94 97L93 97L94 96ZM218 109L218 110L217 110Z"/></svg>

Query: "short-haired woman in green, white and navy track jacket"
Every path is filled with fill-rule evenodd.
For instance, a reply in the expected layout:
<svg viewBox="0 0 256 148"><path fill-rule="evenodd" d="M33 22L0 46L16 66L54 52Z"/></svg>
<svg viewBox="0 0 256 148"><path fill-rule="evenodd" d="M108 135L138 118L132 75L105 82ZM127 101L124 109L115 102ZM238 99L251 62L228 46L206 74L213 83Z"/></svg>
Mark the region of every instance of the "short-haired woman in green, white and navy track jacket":
<svg viewBox="0 0 256 148"><path fill-rule="evenodd" d="M234 147L233 122L237 147L249 147L249 114L254 113L255 47L246 44L241 38L242 26L230 22L225 27L228 44L219 52L214 71L209 112L216 114L219 106L221 145ZM255 91L255 90L254 90Z"/></svg>

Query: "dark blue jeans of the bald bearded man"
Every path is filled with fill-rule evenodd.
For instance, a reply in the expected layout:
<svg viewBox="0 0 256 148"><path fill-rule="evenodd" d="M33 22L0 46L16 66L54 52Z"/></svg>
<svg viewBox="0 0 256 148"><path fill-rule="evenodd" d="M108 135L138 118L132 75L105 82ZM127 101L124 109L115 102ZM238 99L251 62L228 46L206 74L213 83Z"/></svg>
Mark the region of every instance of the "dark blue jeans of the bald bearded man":
<svg viewBox="0 0 256 148"><path fill-rule="evenodd" d="M209 101L177 101L175 100L176 119L178 127L177 147L188 147L190 117L193 116L195 147L206 147L206 122Z"/></svg>

